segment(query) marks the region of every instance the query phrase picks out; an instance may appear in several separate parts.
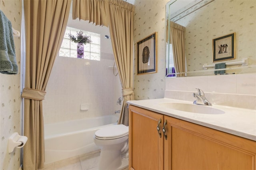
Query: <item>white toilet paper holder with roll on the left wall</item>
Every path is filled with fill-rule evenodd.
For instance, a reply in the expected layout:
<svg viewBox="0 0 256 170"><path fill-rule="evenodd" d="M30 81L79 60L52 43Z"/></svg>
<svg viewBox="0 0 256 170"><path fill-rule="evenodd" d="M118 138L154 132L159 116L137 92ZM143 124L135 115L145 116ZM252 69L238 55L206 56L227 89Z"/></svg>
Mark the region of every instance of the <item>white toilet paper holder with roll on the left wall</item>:
<svg viewBox="0 0 256 170"><path fill-rule="evenodd" d="M9 138L9 153L12 153L14 148L22 148L26 144L27 140L27 136L20 136L17 132L14 132Z"/></svg>

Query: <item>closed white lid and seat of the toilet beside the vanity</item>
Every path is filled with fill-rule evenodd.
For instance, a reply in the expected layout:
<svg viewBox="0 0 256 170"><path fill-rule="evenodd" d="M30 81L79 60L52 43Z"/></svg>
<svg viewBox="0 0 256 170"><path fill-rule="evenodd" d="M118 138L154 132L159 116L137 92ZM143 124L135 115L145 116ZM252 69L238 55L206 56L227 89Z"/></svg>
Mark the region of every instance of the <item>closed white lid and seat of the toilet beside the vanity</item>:
<svg viewBox="0 0 256 170"><path fill-rule="evenodd" d="M104 127L95 132L96 138L114 139L127 136L129 134L129 127L125 125L111 125Z"/></svg>

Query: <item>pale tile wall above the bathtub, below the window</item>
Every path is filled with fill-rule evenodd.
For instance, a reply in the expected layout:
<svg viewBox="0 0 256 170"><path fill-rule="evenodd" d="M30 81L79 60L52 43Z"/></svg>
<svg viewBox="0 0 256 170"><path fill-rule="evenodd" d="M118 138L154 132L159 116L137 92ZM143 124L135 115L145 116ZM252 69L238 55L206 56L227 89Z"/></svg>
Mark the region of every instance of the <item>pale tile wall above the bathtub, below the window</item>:
<svg viewBox="0 0 256 170"><path fill-rule="evenodd" d="M106 59L108 58L108 59ZM119 77L113 75L113 54L100 61L57 57L46 89L44 123L114 114L121 97ZM116 71L116 70L115 70ZM80 105L88 104L88 111Z"/></svg>

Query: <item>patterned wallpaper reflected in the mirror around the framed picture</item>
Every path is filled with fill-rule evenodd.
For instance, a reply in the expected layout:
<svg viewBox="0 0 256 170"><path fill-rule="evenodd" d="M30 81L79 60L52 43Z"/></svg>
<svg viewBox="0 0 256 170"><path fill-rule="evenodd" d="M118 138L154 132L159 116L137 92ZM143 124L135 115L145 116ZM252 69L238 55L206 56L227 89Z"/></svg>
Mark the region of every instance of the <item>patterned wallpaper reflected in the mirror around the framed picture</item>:
<svg viewBox="0 0 256 170"><path fill-rule="evenodd" d="M248 64L255 65L255 17L255 0L215 0L178 21L186 27L187 71L202 70L204 63L211 65L212 39L234 32L236 59L226 62L248 58Z"/></svg>

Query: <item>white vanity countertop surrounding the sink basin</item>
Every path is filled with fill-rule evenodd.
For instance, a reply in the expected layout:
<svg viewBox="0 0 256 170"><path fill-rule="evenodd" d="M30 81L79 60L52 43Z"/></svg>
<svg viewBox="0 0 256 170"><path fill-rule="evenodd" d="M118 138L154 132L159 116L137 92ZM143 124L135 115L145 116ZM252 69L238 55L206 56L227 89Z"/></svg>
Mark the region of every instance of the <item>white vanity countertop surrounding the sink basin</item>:
<svg viewBox="0 0 256 170"><path fill-rule="evenodd" d="M221 105L212 105L213 107L224 111L224 114L202 114L178 111L163 107L160 103L189 103L193 101L182 101L176 99L148 99L127 101L129 105L138 106L150 111L162 113L184 121L196 123L205 127L220 130L244 138L256 141L256 110L241 109L237 107L227 107Z"/></svg>

